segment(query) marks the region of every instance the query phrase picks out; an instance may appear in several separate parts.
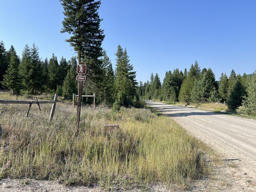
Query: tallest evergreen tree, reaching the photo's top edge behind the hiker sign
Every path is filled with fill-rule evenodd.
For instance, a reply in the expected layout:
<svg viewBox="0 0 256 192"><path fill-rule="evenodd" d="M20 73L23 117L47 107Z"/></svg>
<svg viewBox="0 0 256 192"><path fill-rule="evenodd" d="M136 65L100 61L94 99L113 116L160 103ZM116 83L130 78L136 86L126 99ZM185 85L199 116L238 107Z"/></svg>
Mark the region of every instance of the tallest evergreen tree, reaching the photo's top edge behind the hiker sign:
<svg viewBox="0 0 256 192"><path fill-rule="evenodd" d="M61 33L72 34L66 39L77 52L78 64L83 60L87 65L86 92L95 92L101 98L100 90L103 69L99 57L102 56L101 43L105 37L100 29L98 9L100 1L61 0L64 9Z"/></svg>

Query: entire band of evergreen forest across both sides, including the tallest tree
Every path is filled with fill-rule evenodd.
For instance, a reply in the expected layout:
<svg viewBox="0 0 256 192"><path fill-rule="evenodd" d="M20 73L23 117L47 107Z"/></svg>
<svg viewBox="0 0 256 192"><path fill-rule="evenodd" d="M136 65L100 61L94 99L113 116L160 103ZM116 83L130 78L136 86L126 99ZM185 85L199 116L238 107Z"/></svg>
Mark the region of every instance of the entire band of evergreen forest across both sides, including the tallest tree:
<svg viewBox="0 0 256 192"><path fill-rule="evenodd" d="M72 36L66 39L76 56L66 60L54 53L44 60L36 44L26 44L21 57L13 46L6 50L0 42L0 89L12 94L58 93L66 100L78 92L76 67L81 61L87 65L86 83L82 94L97 95L97 103L119 110L120 106L140 107L139 100L166 102L215 103L225 102L231 111L246 115L256 114L256 74L230 75L222 73L219 81L211 68L199 67L197 61L189 70L178 68L166 71L161 83L158 74L150 80L136 81L136 72L130 63L126 48L117 46L116 63L113 68L107 52L101 47L104 30L100 28L98 9L100 1L60 1L64 20L60 33ZM88 13L88 14L87 14Z"/></svg>

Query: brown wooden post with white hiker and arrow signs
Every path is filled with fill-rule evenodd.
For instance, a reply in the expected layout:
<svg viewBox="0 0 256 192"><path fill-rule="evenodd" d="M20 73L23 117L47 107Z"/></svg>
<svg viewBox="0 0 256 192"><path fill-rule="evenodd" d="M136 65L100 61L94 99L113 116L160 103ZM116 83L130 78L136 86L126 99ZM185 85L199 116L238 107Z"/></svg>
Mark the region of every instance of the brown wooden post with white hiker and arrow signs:
<svg viewBox="0 0 256 192"><path fill-rule="evenodd" d="M77 112L76 112L76 134L78 134L79 133L79 124L80 124L83 81L86 81L86 77L83 75L85 75L87 73L87 67L86 67L86 65L84 65L84 62L81 62L79 65L77 65L76 72L77 72L77 74L79 74L79 76L76 76L76 80L79 81Z"/></svg>

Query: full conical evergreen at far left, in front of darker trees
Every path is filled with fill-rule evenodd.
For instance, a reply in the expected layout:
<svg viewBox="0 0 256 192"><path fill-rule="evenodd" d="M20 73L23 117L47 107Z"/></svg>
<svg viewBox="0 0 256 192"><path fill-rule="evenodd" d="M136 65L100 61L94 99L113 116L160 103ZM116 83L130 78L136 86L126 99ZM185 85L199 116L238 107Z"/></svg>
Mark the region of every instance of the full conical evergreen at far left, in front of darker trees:
<svg viewBox="0 0 256 192"><path fill-rule="evenodd" d="M20 83L20 74L19 74L20 60L16 54L16 51L13 49L11 53L11 59L9 66L4 75L4 80L2 84L8 89L11 89L12 94L20 93L21 83Z"/></svg>

